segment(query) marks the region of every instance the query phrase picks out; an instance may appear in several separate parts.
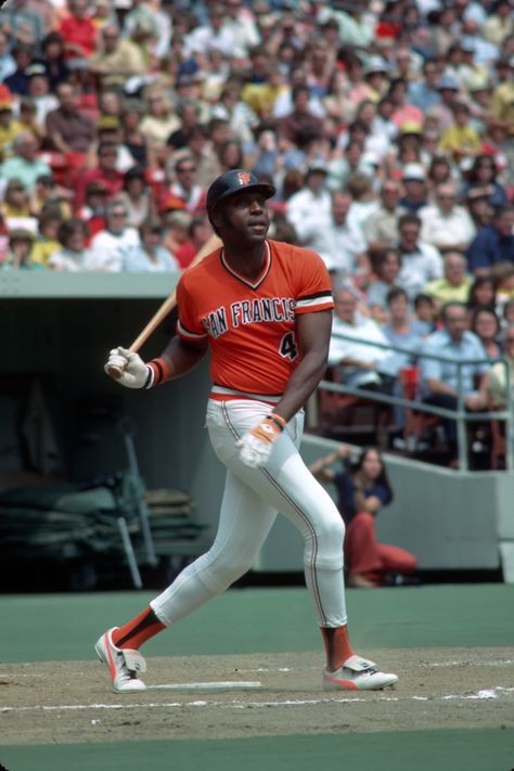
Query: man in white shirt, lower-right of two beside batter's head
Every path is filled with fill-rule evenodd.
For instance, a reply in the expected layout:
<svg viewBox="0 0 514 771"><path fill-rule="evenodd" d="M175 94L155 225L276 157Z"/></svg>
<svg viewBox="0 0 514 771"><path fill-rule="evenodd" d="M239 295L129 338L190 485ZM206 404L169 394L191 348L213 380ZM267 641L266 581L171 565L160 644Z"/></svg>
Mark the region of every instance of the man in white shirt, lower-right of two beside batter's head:
<svg viewBox="0 0 514 771"><path fill-rule="evenodd" d="M318 252L326 268L339 279L368 271L365 241L358 226L348 221L351 196L348 193L333 191L330 223L318 232L311 241L311 247Z"/></svg>

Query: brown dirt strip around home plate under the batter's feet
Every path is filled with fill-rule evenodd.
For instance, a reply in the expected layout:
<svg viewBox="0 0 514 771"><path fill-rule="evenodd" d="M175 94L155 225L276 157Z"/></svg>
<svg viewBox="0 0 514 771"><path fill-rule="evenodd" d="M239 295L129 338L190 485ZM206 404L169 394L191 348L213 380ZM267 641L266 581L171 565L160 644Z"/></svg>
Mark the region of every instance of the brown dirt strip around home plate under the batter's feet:
<svg viewBox="0 0 514 771"><path fill-rule="evenodd" d="M97 661L4 664L0 745L514 728L512 648L365 655L397 672L398 685L323 692L319 652L151 658L146 684L172 688L125 696L110 690ZM214 681L249 685L194 685Z"/></svg>

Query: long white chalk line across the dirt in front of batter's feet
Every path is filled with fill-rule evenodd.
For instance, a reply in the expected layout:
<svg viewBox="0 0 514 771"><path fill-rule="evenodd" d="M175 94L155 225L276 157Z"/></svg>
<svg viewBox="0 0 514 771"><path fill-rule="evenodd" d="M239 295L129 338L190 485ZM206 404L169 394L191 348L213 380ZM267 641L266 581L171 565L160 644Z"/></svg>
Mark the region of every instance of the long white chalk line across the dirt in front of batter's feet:
<svg viewBox="0 0 514 771"><path fill-rule="evenodd" d="M514 688L503 688L499 685L494 689L483 689L472 694L448 694L434 698L432 696L380 696L374 701L378 702L447 702L453 701L490 701L501 696L514 693ZM262 707L311 707L321 704L355 704L370 703L367 697L347 696L347 697L324 697L324 698L286 698L274 702L242 702L232 699L231 702L217 702L197 699L194 702L139 702L130 704L55 704L55 705L34 705L29 707L0 707L0 714L7 712L56 712L56 711L83 711L88 709L169 709L183 707L222 707L226 709L259 709Z"/></svg>

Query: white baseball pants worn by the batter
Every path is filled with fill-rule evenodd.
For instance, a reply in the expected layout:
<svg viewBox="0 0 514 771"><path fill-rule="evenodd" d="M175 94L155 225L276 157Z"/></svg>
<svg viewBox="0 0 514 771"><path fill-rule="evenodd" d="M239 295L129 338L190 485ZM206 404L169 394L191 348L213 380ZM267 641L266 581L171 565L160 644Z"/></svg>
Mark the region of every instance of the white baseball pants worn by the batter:
<svg viewBox="0 0 514 771"><path fill-rule="evenodd" d="M208 552L188 565L150 604L166 626L176 624L223 592L254 565L277 513L304 538L304 569L320 627L346 625L343 575L344 522L332 498L298 452L304 427L299 412L275 440L261 468L248 468L234 442L271 408L247 399L207 406L213 449L227 466L219 527Z"/></svg>

